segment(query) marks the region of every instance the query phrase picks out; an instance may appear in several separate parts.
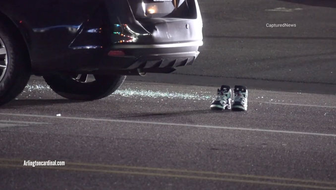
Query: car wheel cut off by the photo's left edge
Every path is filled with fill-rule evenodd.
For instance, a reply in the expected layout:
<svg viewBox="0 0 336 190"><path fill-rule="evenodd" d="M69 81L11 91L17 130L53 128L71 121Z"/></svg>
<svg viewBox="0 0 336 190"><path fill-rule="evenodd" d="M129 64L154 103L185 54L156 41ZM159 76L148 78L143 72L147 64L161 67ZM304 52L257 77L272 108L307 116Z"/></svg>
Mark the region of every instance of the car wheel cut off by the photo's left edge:
<svg viewBox="0 0 336 190"><path fill-rule="evenodd" d="M30 78L29 55L19 37L0 23L0 105L19 95Z"/></svg>

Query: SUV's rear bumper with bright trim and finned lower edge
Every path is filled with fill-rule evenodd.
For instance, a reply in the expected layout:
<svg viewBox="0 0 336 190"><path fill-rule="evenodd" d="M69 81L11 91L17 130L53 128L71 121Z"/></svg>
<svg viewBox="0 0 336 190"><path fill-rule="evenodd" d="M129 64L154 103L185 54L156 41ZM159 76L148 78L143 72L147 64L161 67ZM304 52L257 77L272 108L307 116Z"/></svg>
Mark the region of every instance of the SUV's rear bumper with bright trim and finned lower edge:
<svg viewBox="0 0 336 190"><path fill-rule="evenodd" d="M107 72L132 75L139 72L170 73L176 67L191 65L199 54L202 41L154 44L154 45L117 45L113 50L122 51L123 56L108 56L101 67ZM102 72L100 69L100 72Z"/></svg>

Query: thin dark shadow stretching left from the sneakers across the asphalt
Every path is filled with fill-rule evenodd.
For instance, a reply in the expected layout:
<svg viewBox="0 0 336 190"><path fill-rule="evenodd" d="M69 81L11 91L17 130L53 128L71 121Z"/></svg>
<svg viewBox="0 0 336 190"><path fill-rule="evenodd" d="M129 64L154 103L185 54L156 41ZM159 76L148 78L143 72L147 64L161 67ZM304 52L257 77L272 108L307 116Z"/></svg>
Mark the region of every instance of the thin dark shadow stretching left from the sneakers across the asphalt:
<svg viewBox="0 0 336 190"><path fill-rule="evenodd" d="M127 116L116 117L118 119L122 118L167 118L167 117L176 117L176 116L189 116L197 114L207 114L207 113L223 113L230 112L230 110L211 110L211 109L202 109L202 110L187 110L187 111L175 111L175 112L161 112L161 113L141 113L133 114Z"/></svg>

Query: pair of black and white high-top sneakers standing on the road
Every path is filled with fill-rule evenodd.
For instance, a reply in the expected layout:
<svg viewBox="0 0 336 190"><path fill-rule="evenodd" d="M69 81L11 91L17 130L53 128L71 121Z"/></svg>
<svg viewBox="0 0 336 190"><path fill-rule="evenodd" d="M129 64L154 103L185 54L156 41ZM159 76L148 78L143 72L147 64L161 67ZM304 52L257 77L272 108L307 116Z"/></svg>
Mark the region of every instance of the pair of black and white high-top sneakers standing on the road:
<svg viewBox="0 0 336 190"><path fill-rule="evenodd" d="M232 109L234 111L247 110L247 88L245 86L234 86L234 98L231 105L231 88L223 85L217 90L217 97L211 103L210 108L214 110Z"/></svg>

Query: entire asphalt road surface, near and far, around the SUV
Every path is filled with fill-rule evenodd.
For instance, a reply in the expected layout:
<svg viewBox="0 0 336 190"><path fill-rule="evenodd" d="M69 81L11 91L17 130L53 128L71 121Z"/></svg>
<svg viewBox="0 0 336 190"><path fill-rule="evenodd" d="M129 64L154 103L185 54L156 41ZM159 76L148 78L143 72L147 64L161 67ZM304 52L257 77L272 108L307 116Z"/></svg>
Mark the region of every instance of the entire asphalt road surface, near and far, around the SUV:
<svg viewBox="0 0 336 190"><path fill-rule="evenodd" d="M1 106L0 190L336 190L336 1L199 3L193 66L90 102L32 77ZM248 111L210 110L222 84Z"/></svg>

